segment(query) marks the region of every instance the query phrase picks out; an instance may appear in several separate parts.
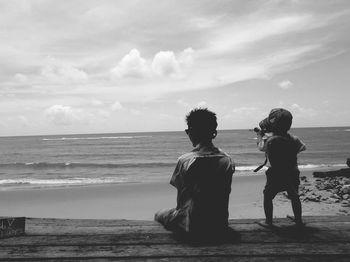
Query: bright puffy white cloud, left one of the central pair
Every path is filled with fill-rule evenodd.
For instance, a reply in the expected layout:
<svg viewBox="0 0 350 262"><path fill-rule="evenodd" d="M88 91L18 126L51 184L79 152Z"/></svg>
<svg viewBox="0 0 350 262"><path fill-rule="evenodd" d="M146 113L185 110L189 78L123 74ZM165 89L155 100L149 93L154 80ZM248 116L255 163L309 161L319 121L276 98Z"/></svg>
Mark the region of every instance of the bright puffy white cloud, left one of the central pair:
<svg viewBox="0 0 350 262"><path fill-rule="evenodd" d="M119 64L111 70L112 78L140 78L148 75L146 60L141 57L139 50L132 49Z"/></svg>

